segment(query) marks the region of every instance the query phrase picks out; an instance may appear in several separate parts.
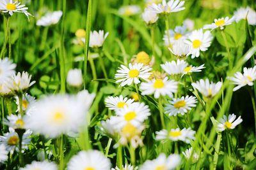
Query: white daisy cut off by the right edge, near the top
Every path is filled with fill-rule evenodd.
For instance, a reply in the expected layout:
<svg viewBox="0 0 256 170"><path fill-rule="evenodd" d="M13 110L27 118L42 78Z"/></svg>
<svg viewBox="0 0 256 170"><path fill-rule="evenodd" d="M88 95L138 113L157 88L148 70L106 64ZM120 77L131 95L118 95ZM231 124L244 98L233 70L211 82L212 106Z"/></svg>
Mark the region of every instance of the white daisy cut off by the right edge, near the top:
<svg viewBox="0 0 256 170"><path fill-rule="evenodd" d="M248 20L248 24L256 25L256 11L247 6L246 8L238 8L234 12L234 17L236 18L236 22L239 20Z"/></svg>

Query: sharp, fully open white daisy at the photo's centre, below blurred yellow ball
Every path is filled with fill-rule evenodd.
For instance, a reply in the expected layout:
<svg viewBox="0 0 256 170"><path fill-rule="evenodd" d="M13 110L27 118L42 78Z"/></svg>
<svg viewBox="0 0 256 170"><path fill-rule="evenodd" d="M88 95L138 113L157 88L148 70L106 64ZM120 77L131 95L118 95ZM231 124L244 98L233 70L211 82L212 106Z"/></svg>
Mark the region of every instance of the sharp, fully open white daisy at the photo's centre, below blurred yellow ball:
<svg viewBox="0 0 256 170"><path fill-rule="evenodd" d="M149 71L151 71L152 68L149 66L143 66L142 63L136 63L132 65L129 64L129 68L121 65L121 67L118 67L117 73L115 74L116 83L120 83L120 86L124 87L125 85L131 85L132 82L135 84L140 83L140 78L143 80L147 80L150 76Z"/></svg>

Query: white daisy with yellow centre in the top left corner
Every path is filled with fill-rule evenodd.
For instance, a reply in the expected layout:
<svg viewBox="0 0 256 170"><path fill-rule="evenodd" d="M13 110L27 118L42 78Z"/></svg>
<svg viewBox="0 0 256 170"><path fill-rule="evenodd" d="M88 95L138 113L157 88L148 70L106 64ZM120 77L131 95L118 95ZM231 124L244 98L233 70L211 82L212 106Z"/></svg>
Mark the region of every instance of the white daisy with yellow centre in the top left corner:
<svg viewBox="0 0 256 170"><path fill-rule="evenodd" d="M0 2L0 10L3 11L3 13L9 13L9 15L13 15L15 12L24 13L29 20L29 16L32 16L30 13L28 13L28 7L25 7L24 4L20 4L19 1L15 1L13 3L13 0L3 0Z"/></svg>

